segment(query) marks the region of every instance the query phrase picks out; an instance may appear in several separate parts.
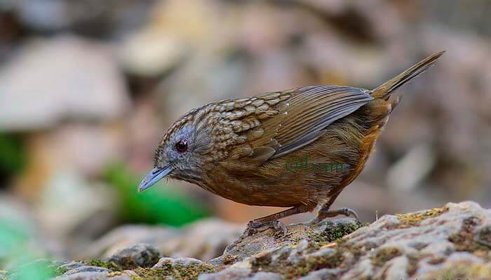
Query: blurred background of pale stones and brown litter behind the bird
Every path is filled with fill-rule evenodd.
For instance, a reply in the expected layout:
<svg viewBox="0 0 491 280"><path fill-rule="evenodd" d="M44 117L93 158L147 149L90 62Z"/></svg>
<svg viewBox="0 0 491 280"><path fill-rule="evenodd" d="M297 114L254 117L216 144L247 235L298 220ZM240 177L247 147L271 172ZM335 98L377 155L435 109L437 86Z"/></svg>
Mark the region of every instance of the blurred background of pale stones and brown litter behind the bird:
<svg viewBox="0 0 491 280"><path fill-rule="evenodd" d="M0 269L100 255L116 242L107 232L149 238L122 225L166 225L146 228L164 251L213 258L229 239L203 257L176 245L178 227L216 217L240 223L227 224L234 235L281 209L173 180L137 193L175 119L297 86L375 88L441 50L398 91L377 152L334 207L369 222L448 201L490 207L490 13L485 0L0 0ZM206 221L190 240L227 232Z"/></svg>

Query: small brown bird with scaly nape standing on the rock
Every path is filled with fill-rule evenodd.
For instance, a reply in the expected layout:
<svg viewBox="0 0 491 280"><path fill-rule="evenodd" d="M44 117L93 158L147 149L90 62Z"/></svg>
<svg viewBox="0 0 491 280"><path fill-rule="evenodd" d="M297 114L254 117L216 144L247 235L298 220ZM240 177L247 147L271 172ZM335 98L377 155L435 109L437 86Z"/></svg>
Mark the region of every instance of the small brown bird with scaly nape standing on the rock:
<svg viewBox="0 0 491 280"><path fill-rule="evenodd" d="M290 207L249 222L249 228L313 211L316 220L358 215L331 210L361 172L399 98L396 88L433 65L425 58L370 91L351 86L304 86L227 99L180 117L159 143L143 191L164 177L194 183L241 204Z"/></svg>

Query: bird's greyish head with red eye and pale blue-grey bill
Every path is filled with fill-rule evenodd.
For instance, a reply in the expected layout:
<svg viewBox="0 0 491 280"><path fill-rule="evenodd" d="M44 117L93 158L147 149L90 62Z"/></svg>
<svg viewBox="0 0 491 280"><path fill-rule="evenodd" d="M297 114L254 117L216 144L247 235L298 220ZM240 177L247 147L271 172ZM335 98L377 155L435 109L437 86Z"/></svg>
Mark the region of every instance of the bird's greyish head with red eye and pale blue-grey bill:
<svg viewBox="0 0 491 280"><path fill-rule="evenodd" d="M194 114L177 120L159 143L154 155L154 168L140 183L140 192L163 178L175 178L199 184L203 166L210 164L212 138L206 126L196 121Z"/></svg>

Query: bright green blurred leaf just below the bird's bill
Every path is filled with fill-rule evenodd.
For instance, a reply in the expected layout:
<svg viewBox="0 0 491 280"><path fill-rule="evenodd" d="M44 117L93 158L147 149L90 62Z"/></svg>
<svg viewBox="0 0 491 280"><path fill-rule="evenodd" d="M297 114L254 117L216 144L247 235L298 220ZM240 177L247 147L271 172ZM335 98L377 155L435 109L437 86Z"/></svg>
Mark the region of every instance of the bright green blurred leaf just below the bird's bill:
<svg viewBox="0 0 491 280"><path fill-rule="evenodd" d="M208 215L207 209L199 202L163 184L139 193L137 187L142 178L123 164L112 164L105 172L105 179L120 196L124 222L179 226Z"/></svg>

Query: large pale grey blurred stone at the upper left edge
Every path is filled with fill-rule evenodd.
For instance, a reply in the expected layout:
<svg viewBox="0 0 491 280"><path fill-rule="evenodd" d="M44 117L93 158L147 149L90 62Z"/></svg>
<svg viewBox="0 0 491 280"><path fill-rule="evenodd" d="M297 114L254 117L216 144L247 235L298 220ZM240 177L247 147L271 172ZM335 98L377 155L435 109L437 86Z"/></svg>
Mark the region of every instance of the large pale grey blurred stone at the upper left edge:
<svg viewBox="0 0 491 280"><path fill-rule="evenodd" d="M76 36L29 41L1 67L0 92L2 131L114 119L130 105L111 49Z"/></svg>

